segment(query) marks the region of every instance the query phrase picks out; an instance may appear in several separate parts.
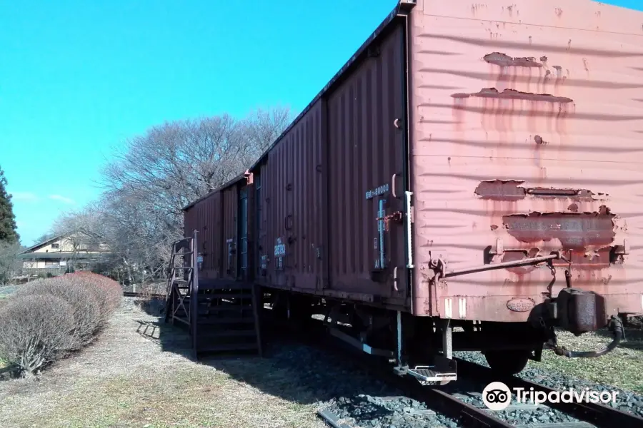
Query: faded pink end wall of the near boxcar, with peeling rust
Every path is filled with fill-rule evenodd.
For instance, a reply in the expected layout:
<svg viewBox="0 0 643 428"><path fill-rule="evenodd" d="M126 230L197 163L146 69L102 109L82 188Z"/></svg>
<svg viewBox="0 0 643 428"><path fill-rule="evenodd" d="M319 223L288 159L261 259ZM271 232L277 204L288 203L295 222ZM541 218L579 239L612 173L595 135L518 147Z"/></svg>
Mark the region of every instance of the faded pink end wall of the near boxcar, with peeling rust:
<svg viewBox="0 0 643 428"><path fill-rule="evenodd" d="M419 1L414 313L459 317L447 307L466 297L467 319L527 320L524 308L565 287L569 263L555 277L514 267L435 283L429 260L449 270L552 250L572 260L572 286L607 297L608 315L642 311L642 24L585 0Z"/></svg>

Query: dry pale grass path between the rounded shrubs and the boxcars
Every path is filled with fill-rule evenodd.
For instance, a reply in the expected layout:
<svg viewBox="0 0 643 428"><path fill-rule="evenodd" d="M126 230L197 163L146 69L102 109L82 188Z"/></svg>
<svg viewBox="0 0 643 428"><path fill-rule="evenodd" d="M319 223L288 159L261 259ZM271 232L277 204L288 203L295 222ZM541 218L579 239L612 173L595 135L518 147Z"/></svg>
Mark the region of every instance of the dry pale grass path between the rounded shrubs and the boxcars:
<svg viewBox="0 0 643 428"><path fill-rule="evenodd" d="M259 373L266 359L196 364L181 355L188 344L184 332L124 301L95 345L41 382L0 382L0 427L324 427L314 404L284 398L296 387L287 371L264 373L271 384L259 389L214 366Z"/></svg>

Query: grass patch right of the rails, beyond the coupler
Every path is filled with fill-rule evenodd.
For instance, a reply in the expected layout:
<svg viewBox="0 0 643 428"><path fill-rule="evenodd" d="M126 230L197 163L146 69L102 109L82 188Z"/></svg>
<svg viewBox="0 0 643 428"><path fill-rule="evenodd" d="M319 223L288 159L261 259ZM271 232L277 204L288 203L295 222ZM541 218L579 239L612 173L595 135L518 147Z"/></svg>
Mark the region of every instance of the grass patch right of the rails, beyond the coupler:
<svg viewBox="0 0 643 428"><path fill-rule="evenodd" d="M572 350L598 350L611 342L609 333L600 331L576 337L557 332L558 342ZM643 330L626 329L627 340L612 352L598 358L565 358L545 351L541 362L530 361L527 367L555 370L579 379L614 385L643 392Z"/></svg>

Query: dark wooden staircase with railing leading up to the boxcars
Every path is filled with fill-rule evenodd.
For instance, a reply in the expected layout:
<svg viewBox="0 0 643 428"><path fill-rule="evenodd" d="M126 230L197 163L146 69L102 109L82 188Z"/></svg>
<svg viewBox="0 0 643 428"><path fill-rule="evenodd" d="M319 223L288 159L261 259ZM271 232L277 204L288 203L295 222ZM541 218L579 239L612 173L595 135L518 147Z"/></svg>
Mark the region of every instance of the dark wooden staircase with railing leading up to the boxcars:
<svg viewBox="0 0 643 428"><path fill-rule="evenodd" d="M189 328L192 353L255 350L259 356L259 287L234 280L199 280L196 230L172 245L165 322ZM193 299L192 296L196 296Z"/></svg>

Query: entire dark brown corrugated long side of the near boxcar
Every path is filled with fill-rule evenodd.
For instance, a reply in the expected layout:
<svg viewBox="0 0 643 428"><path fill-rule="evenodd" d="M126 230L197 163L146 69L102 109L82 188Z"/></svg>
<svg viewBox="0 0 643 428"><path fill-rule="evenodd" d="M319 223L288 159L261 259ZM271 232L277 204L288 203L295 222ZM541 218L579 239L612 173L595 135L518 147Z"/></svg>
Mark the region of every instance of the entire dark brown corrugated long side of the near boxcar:
<svg viewBox="0 0 643 428"><path fill-rule="evenodd" d="M407 295L402 223L384 230L387 269L382 278L372 279L381 260L378 228L384 227L379 200L386 215L404 210L403 37L402 26L382 37L379 50L311 106L254 168L249 267L257 282L391 302ZM221 190L221 203L221 265L224 277L239 279L238 183Z"/></svg>

